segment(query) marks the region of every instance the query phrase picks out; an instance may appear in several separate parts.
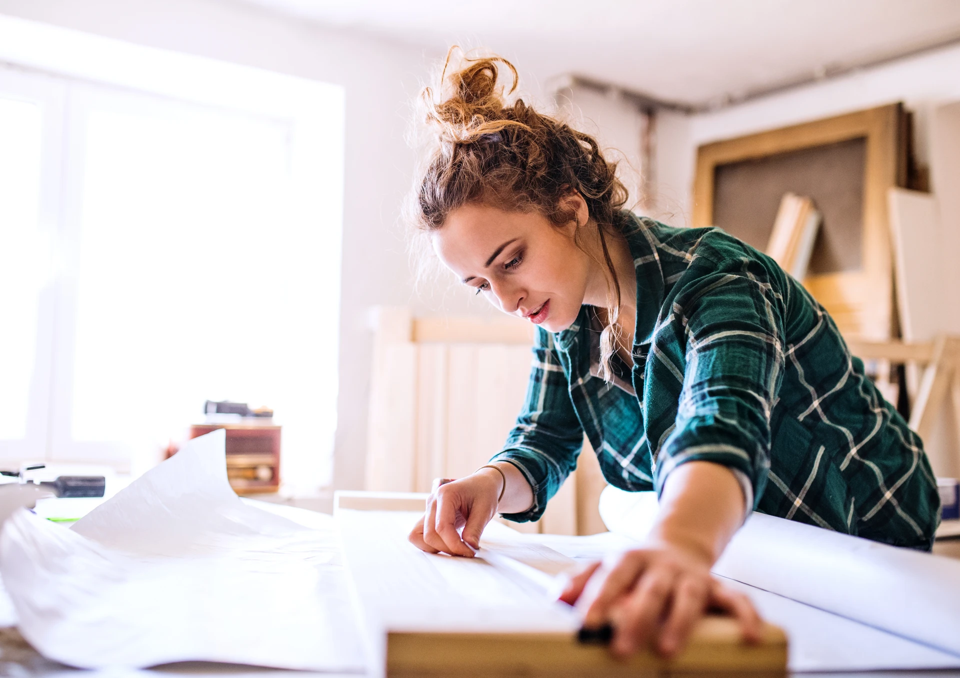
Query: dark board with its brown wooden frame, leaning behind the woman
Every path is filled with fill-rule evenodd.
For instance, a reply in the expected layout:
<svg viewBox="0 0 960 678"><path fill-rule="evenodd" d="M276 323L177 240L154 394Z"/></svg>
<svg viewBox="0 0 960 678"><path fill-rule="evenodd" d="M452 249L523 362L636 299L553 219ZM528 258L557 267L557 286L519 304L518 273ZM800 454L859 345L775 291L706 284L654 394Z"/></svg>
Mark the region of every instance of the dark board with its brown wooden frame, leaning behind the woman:
<svg viewBox="0 0 960 678"><path fill-rule="evenodd" d="M824 218L804 286L845 336L898 336L887 189L906 182L906 150L901 104L705 144L693 225L762 251L783 194L809 196Z"/></svg>

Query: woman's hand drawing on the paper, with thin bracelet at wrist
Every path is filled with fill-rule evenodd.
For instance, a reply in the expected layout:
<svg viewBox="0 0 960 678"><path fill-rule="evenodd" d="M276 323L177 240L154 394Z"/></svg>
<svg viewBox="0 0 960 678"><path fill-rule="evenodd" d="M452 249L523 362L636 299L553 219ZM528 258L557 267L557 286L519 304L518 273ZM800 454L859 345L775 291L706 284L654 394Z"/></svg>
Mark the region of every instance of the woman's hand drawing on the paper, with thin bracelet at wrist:
<svg viewBox="0 0 960 678"><path fill-rule="evenodd" d="M426 511L410 532L411 544L427 553L472 558L480 535L496 515L503 483L504 476L489 467L459 480L434 480Z"/></svg>

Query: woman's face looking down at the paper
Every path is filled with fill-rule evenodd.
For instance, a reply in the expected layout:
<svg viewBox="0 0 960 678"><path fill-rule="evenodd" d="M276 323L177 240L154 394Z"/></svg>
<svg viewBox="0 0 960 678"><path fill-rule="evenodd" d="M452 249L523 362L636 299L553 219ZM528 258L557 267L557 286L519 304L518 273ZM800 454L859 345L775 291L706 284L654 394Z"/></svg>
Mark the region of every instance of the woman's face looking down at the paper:
<svg viewBox="0 0 960 678"><path fill-rule="evenodd" d="M573 200L577 223L586 224L586 203ZM476 294L559 332L577 319L590 282L591 261L574 244L576 228L555 226L539 212L465 205L450 212L432 240L444 265Z"/></svg>

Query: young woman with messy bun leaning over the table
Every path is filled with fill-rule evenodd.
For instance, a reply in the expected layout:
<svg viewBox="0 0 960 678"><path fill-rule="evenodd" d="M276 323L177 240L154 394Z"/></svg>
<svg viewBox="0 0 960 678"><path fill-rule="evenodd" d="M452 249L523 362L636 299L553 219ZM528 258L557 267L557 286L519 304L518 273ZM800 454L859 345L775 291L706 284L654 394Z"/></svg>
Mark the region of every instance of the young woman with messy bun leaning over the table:
<svg viewBox="0 0 960 678"><path fill-rule="evenodd" d="M507 103L504 66L510 94L499 58L424 91L434 146L413 211L457 278L538 327L530 386L504 448L440 486L410 541L471 557L496 513L539 519L586 432L612 485L660 497L646 544L564 593L585 626L612 622L615 653L673 654L710 607L756 638L749 600L709 573L752 510L929 549L922 443L823 307L722 230L624 211L596 141Z"/></svg>

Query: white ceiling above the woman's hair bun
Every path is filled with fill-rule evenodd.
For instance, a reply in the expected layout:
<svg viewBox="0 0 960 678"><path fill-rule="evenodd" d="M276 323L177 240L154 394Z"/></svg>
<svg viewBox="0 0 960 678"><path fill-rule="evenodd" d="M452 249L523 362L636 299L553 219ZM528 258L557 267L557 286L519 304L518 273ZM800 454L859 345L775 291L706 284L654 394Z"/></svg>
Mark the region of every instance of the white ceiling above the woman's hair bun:
<svg viewBox="0 0 960 678"><path fill-rule="evenodd" d="M235 1L697 107L960 39L958 0Z"/></svg>

